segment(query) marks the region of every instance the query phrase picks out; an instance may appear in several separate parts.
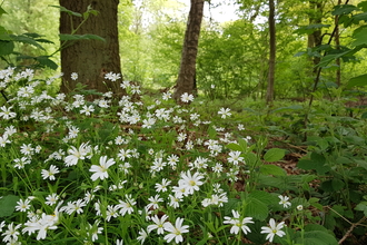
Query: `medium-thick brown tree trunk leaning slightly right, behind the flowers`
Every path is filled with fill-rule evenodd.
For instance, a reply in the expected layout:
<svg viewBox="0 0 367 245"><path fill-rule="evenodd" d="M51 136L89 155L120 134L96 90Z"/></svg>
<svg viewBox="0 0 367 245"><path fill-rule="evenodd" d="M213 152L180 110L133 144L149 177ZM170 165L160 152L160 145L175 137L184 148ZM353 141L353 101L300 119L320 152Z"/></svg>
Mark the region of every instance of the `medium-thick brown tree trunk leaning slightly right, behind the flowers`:
<svg viewBox="0 0 367 245"><path fill-rule="evenodd" d="M200 27L205 0L191 0L187 28L185 32L180 70L173 98L179 101L185 92L196 94L196 57L198 53Z"/></svg>

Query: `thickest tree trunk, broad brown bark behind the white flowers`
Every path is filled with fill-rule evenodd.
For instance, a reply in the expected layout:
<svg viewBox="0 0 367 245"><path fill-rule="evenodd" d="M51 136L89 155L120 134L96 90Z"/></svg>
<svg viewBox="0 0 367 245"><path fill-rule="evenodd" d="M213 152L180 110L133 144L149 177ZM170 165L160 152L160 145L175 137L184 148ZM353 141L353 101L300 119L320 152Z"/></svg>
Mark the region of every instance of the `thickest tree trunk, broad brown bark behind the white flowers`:
<svg viewBox="0 0 367 245"><path fill-rule="evenodd" d="M108 72L121 74L117 7L119 0L60 0L60 6L75 12L83 13L88 6L99 11L99 14L90 16L76 35L97 35L106 39L68 41L61 50L61 71L63 72L61 91L70 92L78 82L87 85L88 89L96 89L99 92L112 91L120 96L125 90L120 88L120 81L105 79ZM82 18L72 17L61 12L60 33L71 33ZM70 78L72 72L79 75L77 80ZM122 79L122 75L121 75Z"/></svg>

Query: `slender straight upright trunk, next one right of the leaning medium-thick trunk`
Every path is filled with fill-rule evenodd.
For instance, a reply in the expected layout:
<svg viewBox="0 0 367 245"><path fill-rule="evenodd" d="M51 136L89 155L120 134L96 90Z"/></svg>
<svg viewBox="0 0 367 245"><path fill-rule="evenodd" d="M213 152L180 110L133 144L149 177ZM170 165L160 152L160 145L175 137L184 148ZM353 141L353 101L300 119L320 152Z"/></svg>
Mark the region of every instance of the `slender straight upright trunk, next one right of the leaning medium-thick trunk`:
<svg viewBox="0 0 367 245"><path fill-rule="evenodd" d="M274 80L275 80L275 61L276 61L276 27L275 27L275 3L269 0L269 74L268 89L266 94L266 102L271 104L274 100Z"/></svg>

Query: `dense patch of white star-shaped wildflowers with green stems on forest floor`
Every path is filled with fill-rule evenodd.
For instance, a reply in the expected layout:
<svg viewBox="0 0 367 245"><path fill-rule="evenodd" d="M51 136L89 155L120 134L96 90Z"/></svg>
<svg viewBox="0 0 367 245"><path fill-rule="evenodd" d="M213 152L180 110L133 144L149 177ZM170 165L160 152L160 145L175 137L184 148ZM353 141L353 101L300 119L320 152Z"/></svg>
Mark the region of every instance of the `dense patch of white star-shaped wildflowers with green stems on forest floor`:
<svg viewBox="0 0 367 245"><path fill-rule="evenodd" d="M172 106L170 91L149 105L136 101L141 88L132 81L121 81L128 91L121 98L111 92L93 101L79 94L50 96L44 85L60 76L44 82L31 70L0 71L0 89L17 79L29 81L11 104L0 105L0 154L9 166L4 178L19 182L9 189L22 188L16 190L21 197L14 214L0 223L4 244L58 243L60 237L82 237L83 244L178 244L196 232L192 208L210 209L210 215L211 208L225 209L228 183L248 169L244 153L225 147L236 143L244 125L236 131L215 126L189 108L195 98L187 92L180 106ZM69 78L80 79L78 72ZM107 72L105 79L118 82L121 75ZM229 108L218 114L219 120L231 116ZM21 127L26 122L30 129ZM216 136L196 134L195 127ZM287 197L279 198L290 207ZM221 216L221 231L250 233L255 220L242 213ZM261 228L269 242L285 235L284 223L270 219L269 226Z"/></svg>

